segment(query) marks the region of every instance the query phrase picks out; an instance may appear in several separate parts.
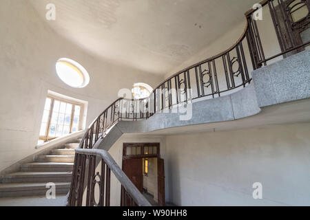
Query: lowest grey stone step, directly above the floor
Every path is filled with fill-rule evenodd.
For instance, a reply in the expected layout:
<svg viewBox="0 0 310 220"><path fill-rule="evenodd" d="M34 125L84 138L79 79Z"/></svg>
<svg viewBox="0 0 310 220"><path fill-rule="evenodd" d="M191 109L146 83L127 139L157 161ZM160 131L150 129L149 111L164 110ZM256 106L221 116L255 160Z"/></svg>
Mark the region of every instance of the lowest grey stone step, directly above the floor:
<svg viewBox="0 0 310 220"><path fill-rule="evenodd" d="M55 186L56 195L62 195L70 190L70 182L58 182ZM0 197L45 195L49 188L46 188L46 183L0 184Z"/></svg>

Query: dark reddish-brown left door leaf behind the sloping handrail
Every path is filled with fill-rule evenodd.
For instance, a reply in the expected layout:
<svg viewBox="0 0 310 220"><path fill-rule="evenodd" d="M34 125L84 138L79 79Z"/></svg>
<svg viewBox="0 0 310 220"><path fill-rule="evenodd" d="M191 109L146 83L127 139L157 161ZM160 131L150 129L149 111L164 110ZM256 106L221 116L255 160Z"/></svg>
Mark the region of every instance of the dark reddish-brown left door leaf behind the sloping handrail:
<svg viewBox="0 0 310 220"><path fill-rule="evenodd" d="M138 159L124 159L123 171L132 181L134 186L142 192L143 190L143 166L142 158Z"/></svg>

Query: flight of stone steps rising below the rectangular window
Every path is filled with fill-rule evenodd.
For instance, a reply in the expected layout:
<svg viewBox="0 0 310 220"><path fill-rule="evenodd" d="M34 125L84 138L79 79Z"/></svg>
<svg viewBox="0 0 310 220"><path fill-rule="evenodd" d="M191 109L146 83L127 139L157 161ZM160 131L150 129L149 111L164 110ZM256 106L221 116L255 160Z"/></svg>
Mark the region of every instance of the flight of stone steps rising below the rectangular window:
<svg viewBox="0 0 310 220"><path fill-rule="evenodd" d="M56 186L56 196L66 195L70 190L74 148L78 146L79 143L65 144L48 155L39 155L32 163L22 164L19 172L1 177L0 198L45 195L50 182Z"/></svg>

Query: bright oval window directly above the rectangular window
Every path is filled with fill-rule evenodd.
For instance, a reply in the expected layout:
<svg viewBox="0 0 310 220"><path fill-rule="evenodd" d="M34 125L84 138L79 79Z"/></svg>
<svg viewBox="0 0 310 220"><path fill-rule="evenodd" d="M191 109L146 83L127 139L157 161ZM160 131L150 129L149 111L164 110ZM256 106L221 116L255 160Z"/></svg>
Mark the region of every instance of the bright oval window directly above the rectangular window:
<svg viewBox="0 0 310 220"><path fill-rule="evenodd" d="M56 62L56 73L70 87L83 88L90 83L90 75L86 69L68 58L60 58Z"/></svg>

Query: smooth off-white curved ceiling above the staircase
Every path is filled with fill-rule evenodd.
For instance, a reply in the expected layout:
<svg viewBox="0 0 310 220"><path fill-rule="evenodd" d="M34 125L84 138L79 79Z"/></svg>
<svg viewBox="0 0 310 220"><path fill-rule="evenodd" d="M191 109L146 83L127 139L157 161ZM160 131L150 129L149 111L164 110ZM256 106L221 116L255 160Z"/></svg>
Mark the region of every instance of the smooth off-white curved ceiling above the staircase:
<svg viewBox="0 0 310 220"><path fill-rule="evenodd" d="M167 74L244 21L243 14L256 1L30 0L30 3L57 33L84 50L144 72ZM45 19L48 3L56 5L56 21Z"/></svg>

